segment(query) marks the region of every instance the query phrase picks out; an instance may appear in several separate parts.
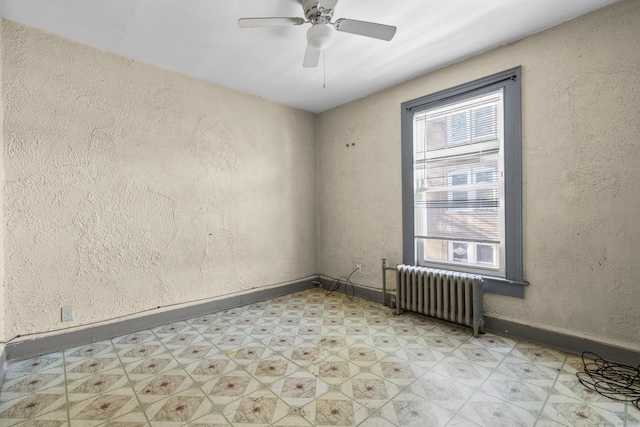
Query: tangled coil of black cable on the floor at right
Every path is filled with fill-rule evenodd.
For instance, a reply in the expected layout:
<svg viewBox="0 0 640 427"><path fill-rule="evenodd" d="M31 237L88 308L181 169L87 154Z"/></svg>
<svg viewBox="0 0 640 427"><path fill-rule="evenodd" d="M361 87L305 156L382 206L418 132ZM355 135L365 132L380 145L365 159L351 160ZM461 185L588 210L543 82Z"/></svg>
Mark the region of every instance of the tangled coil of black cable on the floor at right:
<svg viewBox="0 0 640 427"><path fill-rule="evenodd" d="M582 353L582 364L584 372L576 376L583 386L609 399L631 402L640 410L640 365L634 368L608 362L589 351Z"/></svg>

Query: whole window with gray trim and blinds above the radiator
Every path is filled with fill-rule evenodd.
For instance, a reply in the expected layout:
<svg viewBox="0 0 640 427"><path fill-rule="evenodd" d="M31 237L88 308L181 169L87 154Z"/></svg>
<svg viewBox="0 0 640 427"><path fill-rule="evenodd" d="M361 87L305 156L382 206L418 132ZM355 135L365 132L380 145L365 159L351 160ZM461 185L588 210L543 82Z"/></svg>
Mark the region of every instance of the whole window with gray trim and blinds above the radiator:
<svg viewBox="0 0 640 427"><path fill-rule="evenodd" d="M520 108L520 68L402 104L405 264L520 296Z"/></svg>

